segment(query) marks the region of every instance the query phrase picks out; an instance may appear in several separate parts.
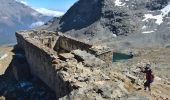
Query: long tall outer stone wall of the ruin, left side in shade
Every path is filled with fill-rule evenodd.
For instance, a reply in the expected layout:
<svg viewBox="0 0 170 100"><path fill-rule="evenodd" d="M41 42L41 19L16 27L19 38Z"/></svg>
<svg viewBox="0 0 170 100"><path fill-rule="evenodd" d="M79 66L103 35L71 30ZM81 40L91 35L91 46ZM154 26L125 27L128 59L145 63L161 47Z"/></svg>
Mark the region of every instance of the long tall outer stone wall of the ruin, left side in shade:
<svg viewBox="0 0 170 100"><path fill-rule="evenodd" d="M69 85L56 72L52 64L53 57L57 57L57 53L36 39L29 38L28 34L16 32L16 37L18 45L25 51L31 73L54 90L57 98L67 95L70 92Z"/></svg>

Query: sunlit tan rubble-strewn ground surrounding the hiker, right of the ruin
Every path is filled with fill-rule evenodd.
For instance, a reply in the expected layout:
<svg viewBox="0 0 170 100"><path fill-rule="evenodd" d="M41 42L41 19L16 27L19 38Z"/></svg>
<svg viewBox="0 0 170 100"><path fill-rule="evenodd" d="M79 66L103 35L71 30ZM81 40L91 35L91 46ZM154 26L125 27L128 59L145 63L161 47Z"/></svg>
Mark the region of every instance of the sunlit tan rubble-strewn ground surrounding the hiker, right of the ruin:
<svg viewBox="0 0 170 100"><path fill-rule="evenodd" d="M65 80L69 80L73 87L69 97L74 100L80 98L81 100L169 100L170 49L134 48L133 51L135 51L134 58L108 62L109 66L103 67L87 66L75 59L67 60L68 63L57 71ZM128 55L129 50L119 52ZM155 74L151 92L143 89L145 75L138 69L147 63L152 65ZM67 100L68 96L65 99Z"/></svg>

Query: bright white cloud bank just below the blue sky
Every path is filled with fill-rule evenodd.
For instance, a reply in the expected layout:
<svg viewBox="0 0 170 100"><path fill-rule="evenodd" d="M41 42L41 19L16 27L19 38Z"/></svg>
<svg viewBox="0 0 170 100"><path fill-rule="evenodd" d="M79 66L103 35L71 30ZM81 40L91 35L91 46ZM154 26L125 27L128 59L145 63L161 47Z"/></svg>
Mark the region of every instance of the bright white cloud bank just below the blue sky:
<svg viewBox="0 0 170 100"><path fill-rule="evenodd" d="M37 12L46 15L46 16L53 16L53 17L59 17L64 15L64 12L60 12L60 11L53 11L53 10L49 10L46 8L34 8Z"/></svg>

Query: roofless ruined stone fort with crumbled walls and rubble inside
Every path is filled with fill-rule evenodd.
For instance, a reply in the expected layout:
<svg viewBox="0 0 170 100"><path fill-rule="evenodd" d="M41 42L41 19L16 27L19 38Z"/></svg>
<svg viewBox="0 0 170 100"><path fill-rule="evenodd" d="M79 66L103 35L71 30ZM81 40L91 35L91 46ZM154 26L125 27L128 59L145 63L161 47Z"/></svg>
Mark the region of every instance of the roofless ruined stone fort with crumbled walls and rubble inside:
<svg viewBox="0 0 170 100"><path fill-rule="evenodd" d="M55 91L57 98L85 87L86 81L97 80L92 68L107 67L105 61L112 55L108 47L81 42L60 32L19 31L16 37L31 73Z"/></svg>

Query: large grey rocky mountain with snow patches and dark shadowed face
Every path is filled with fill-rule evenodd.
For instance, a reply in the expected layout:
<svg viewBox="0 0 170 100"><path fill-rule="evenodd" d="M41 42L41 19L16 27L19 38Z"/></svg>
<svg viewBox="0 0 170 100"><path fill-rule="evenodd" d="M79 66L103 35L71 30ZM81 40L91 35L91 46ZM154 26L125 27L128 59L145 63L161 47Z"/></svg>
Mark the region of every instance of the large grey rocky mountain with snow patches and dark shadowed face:
<svg viewBox="0 0 170 100"><path fill-rule="evenodd" d="M165 46L169 12L170 0L79 0L41 28L112 46Z"/></svg>

